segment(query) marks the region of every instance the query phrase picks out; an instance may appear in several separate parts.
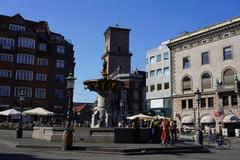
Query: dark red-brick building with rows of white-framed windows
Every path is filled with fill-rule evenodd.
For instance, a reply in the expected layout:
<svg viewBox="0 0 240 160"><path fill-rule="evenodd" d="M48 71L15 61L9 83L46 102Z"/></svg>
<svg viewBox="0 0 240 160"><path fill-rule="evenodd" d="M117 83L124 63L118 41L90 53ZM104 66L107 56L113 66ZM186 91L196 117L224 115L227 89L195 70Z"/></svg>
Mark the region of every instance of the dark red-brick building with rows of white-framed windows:
<svg viewBox="0 0 240 160"><path fill-rule="evenodd" d="M24 109L63 112L65 77L74 65L73 45L47 22L0 15L0 110L19 108L23 91Z"/></svg>

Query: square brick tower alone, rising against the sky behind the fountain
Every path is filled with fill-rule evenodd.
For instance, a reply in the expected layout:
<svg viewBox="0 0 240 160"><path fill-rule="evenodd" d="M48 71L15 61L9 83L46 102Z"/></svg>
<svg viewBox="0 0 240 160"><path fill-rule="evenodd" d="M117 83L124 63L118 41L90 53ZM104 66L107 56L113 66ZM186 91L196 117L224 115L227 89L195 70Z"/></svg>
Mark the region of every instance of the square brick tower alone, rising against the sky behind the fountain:
<svg viewBox="0 0 240 160"><path fill-rule="evenodd" d="M108 27L104 32L105 51L102 59L107 62L108 78L115 72L130 73L131 56L129 52L130 29Z"/></svg>

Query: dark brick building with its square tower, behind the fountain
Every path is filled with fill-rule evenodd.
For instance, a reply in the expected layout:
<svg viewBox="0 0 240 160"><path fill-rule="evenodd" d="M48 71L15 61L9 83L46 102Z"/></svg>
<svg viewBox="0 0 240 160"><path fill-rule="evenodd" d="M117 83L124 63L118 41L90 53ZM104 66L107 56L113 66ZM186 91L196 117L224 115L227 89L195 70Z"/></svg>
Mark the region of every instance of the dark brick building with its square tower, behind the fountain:
<svg viewBox="0 0 240 160"><path fill-rule="evenodd" d="M105 53L102 59L107 61L109 79L117 79L125 84L118 93L111 95L113 125L124 117L146 110L146 75L144 71L131 72L129 51L130 29L108 27L104 32Z"/></svg>

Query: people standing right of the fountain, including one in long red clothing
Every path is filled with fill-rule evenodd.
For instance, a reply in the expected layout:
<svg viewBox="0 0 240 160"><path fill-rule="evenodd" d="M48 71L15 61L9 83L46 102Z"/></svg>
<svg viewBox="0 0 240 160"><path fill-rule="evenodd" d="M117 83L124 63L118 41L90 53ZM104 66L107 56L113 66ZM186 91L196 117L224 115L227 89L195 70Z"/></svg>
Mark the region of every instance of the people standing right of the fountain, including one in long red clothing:
<svg viewBox="0 0 240 160"><path fill-rule="evenodd" d="M135 128L135 142L140 139L140 119L136 118L132 125ZM172 119L155 119L150 123L151 142L173 144L177 141L177 122Z"/></svg>

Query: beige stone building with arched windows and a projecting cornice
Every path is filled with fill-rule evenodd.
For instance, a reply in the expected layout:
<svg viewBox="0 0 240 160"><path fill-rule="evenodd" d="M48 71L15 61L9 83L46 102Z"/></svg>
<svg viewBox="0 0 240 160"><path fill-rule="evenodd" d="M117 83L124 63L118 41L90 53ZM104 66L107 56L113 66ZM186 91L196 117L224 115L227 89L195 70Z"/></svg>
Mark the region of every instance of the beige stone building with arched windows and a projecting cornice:
<svg viewBox="0 0 240 160"><path fill-rule="evenodd" d="M199 120L202 126L228 134L240 126L240 17L172 39L173 117L179 126L196 122L199 88Z"/></svg>

